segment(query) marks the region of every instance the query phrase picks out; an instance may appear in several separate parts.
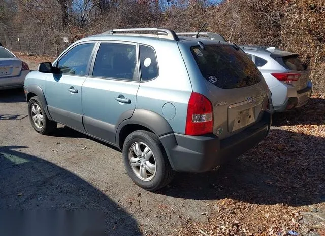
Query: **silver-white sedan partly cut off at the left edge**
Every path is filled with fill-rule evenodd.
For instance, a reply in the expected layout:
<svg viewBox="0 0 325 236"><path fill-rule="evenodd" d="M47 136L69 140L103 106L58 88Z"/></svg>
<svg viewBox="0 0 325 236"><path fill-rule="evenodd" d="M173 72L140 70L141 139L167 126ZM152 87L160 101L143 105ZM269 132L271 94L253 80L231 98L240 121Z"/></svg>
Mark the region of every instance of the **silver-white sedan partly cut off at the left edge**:
<svg viewBox="0 0 325 236"><path fill-rule="evenodd" d="M27 63L0 46L0 90L22 88L28 73Z"/></svg>

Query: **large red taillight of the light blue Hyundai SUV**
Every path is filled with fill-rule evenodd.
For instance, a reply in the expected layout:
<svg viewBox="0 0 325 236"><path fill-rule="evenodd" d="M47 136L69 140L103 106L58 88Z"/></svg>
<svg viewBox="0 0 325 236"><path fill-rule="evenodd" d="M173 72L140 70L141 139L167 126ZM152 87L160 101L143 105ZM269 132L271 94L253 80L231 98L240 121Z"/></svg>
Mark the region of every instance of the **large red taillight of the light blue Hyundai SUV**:
<svg viewBox="0 0 325 236"><path fill-rule="evenodd" d="M213 132L212 104L202 94L192 92L187 106L185 134L202 135Z"/></svg>

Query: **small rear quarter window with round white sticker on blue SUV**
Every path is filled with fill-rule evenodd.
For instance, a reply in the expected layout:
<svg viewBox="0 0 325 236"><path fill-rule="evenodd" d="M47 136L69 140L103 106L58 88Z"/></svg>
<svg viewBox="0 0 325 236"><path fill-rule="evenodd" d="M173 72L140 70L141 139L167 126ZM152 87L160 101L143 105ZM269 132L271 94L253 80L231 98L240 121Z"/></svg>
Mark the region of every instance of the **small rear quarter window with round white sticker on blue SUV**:
<svg viewBox="0 0 325 236"><path fill-rule="evenodd" d="M141 79L151 80L158 76L158 64L153 48L139 45Z"/></svg>

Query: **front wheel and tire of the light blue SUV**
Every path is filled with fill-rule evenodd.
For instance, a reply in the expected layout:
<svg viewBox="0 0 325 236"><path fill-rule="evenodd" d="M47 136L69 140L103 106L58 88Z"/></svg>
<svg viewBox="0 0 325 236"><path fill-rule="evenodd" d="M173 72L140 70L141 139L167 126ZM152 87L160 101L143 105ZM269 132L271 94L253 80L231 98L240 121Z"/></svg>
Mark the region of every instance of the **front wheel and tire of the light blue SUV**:
<svg viewBox="0 0 325 236"><path fill-rule="evenodd" d="M37 96L28 101L28 115L32 128L40 134L49 134L57 127L56 122L48 119Z"/></svg>

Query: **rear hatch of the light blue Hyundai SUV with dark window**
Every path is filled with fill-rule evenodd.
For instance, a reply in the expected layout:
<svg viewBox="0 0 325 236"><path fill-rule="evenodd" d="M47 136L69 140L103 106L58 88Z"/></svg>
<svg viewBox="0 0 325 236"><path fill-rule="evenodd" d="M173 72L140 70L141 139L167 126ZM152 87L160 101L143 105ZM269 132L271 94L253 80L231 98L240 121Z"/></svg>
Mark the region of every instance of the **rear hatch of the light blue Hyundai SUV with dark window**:
<svg viewBox="0 0 325 236"><path fill-rule="evenodd" d="M256 123L266 109L268 87L255 64L231 44L191 46L190 51L204 78L201 92L213 106L213 133L229 137Z"/></svg>

